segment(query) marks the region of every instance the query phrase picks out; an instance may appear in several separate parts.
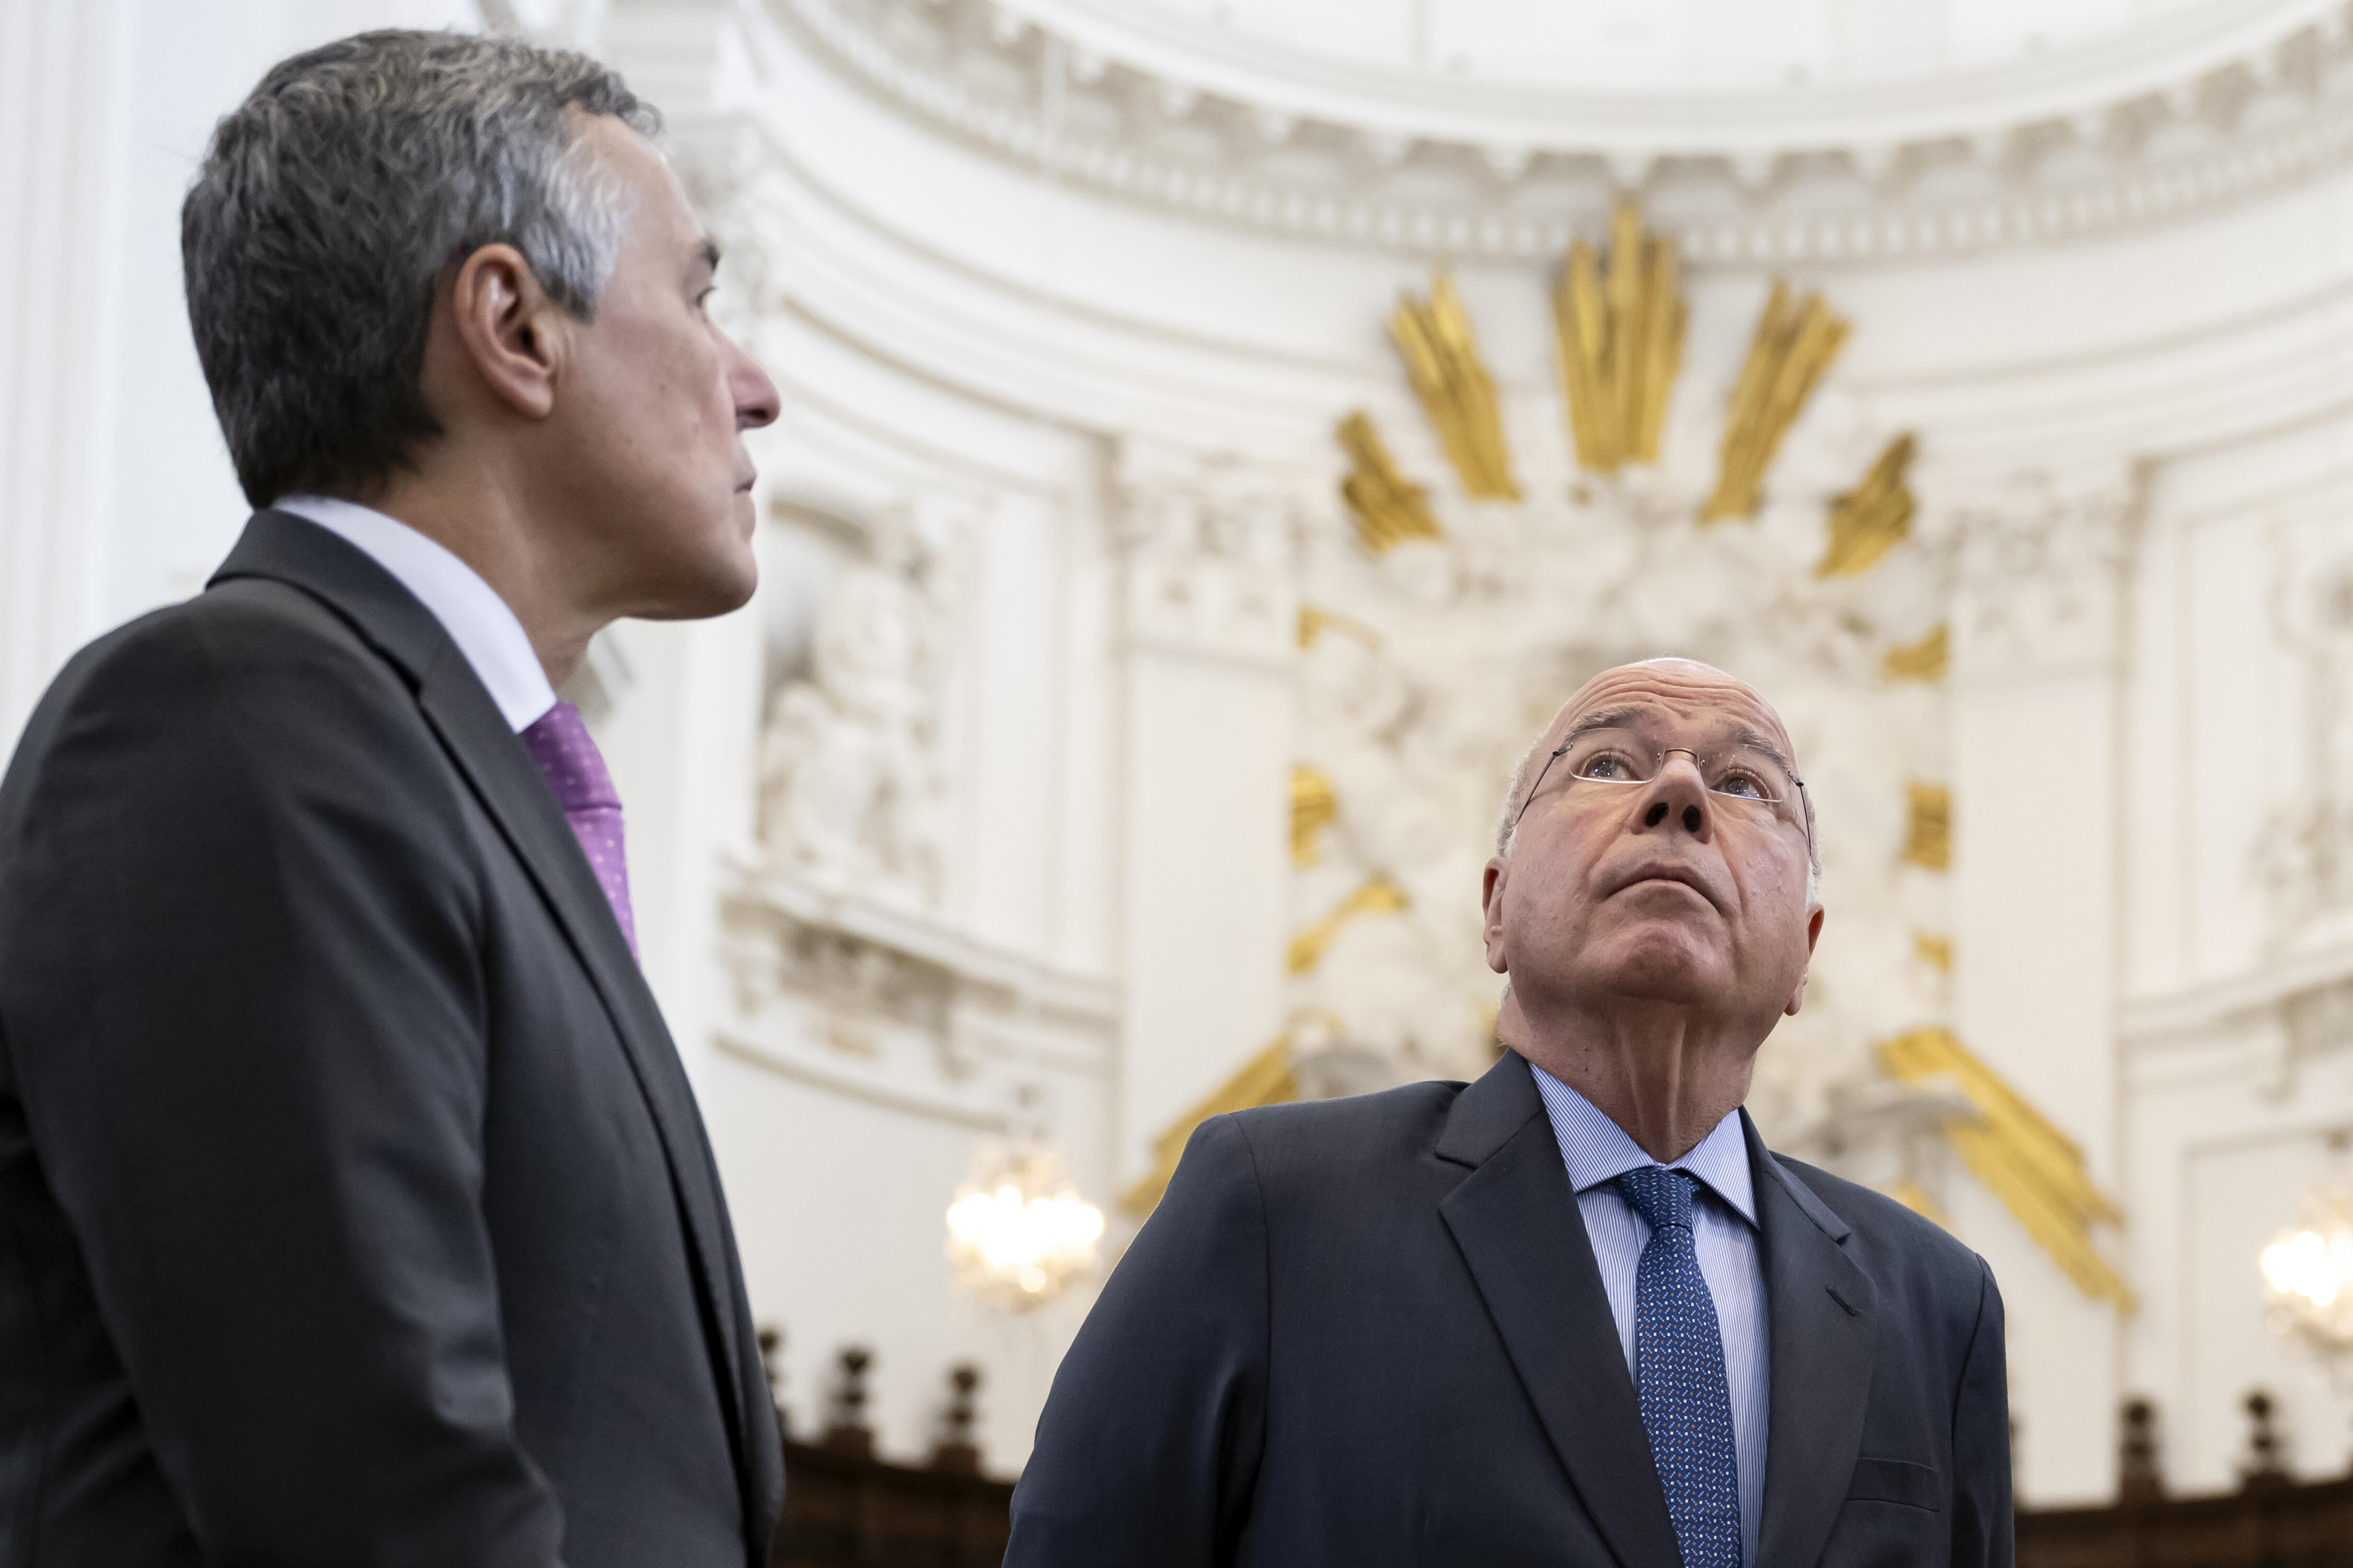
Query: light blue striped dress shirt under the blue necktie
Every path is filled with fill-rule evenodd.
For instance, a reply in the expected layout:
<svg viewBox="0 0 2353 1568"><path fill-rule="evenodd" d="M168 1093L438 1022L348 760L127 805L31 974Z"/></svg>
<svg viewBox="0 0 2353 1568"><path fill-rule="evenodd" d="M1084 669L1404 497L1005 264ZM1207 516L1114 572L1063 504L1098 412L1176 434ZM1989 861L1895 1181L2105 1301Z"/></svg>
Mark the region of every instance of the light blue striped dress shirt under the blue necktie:
<svg viewBox="0 0 2353 1568"><path fill-rule="evenodd" d="M1529 1063L1537 1091L1560 1140L1560 1161L1569 1168L1577 1211L1593 1239L1593 1262L1602 1269L1609 1293L1609 1316L1617 1319L1626 1371L1633 1373L1633 1274L1642 1262L1649 1225L1624 1197L1617 1178L1654 1166L1617 1121L1544 1067ZM1725 1389L1732 1394L1732 1450L1741 1472L1741 1561L1758 1561L1758 1516L1765 1512L1765 1267L1758 1258L1758 1206L1748 1180L1748 1140L1741 1138L1741 1114L1732 1112L1715 1131L1675 1161L1675 1171L1699 1178L1692 1204L1692 1248L1699 1272L1715 1298L1715 1328L1725 1340Z"/></svg>

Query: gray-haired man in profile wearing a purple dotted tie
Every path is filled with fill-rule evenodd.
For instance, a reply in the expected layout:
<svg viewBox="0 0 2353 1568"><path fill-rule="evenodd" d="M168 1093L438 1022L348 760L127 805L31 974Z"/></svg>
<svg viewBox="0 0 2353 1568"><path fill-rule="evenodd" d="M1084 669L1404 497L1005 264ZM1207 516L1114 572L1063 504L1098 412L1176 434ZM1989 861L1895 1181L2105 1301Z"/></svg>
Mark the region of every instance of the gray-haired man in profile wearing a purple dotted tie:
<svg viewBox="0 0 2353 1568"><path fill-rule="evenodd" d="M367 33L184 209L256 515L0 783L0 1561L767 1561L718 1171L555 686L753 590L718 247L595 61Z"/></svg>

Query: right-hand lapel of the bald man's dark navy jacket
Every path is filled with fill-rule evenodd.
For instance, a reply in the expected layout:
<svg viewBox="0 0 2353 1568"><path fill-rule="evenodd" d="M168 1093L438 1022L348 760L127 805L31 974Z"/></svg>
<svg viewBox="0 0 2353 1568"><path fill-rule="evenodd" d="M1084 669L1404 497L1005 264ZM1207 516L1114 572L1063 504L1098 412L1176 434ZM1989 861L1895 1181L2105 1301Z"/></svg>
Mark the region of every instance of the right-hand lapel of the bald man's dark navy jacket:
<svg viewBox="0 0 2353 1568"><path fill-rule="evenodd" d="M1878 1288L1852 1258L1849 1227L1781 1168L1748 1112L1772 1345L1765 1519L1755 1568L1812 1568L1854 1479L1871 1403Z"/></svg>

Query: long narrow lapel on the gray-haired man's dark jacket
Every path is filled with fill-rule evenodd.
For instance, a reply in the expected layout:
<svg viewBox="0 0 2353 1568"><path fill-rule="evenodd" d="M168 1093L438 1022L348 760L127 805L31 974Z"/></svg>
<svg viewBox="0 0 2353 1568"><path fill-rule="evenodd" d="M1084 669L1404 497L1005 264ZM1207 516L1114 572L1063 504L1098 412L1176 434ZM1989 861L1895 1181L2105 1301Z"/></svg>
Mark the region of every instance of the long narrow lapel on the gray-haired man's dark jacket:
<svg viewBox="0 0 2353 1568"><path fill-rule="evenodd" d="M751 1399L755 1385L765 1389L765 1380L758 1375L758 1359L748 1354L748 1324L739 1321L734 1237L720 1208L718 1168L654 994L546 778L433 611L362 550L301 517L259 512L212 581L238 576L266 576L315 595L407 675L426 722L539 886L588 973L621 1037L671 1168L751 1507L765 1486L758 1460L762 1443L748 1418L765 1413L767 1401Z"/></svg>

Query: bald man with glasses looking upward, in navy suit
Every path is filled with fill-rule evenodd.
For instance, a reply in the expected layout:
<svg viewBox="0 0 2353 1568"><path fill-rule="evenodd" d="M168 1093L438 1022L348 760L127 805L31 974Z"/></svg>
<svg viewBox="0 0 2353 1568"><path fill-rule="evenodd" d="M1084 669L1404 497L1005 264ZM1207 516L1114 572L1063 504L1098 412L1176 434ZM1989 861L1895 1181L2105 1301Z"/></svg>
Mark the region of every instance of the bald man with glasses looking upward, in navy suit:
<svg viewBox="0 0 2353 1568"><path fill-rule="evenodd" d="M2007 1566L1991 1272L1741 1110L1817 889L1762 696L1586 682L1485 872L1501 1060L1202 1124L1054 1378L1007 1568Z"/></svg>

